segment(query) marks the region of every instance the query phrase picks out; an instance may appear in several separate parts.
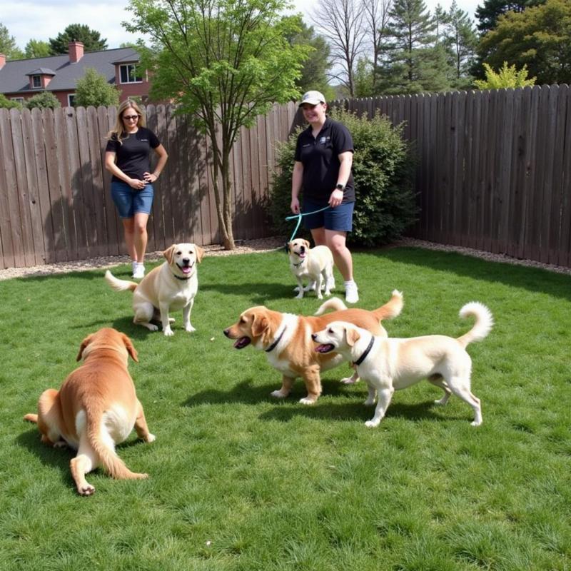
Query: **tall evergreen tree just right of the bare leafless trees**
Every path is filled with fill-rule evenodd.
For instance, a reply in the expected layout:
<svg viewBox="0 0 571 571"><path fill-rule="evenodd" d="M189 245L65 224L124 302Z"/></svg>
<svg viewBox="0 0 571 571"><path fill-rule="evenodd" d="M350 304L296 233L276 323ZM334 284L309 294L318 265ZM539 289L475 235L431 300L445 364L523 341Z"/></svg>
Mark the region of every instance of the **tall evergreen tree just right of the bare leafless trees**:
<svg viewBox="0 0 571 571"><path fill-rule="evenodd" d="M390 11L387 59L380 70L386 94L443 91L450 86L445 49L423 0L395 0Z"/></svg>

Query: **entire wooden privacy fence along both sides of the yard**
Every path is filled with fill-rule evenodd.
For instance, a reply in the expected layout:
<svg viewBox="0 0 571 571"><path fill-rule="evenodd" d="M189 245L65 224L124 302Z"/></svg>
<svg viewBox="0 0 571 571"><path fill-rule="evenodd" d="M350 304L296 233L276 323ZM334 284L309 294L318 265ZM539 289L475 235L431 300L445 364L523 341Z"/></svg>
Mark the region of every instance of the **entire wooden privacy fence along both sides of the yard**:
<svg viewBox="0 0 571 571"><path fill-rule="evenodd" d="M561 85L333 105L404 123L420 207L410 236L571 267L570 97ZM169 153L156 183L148 249L219 243L205 139L170 106L146 113ZM114 117L114 108L0 109L2 267L123 253L103 169ZM275 143L299 123L289 103L242 130L232 163L237 239L271 233L264 204Z"/></svg>

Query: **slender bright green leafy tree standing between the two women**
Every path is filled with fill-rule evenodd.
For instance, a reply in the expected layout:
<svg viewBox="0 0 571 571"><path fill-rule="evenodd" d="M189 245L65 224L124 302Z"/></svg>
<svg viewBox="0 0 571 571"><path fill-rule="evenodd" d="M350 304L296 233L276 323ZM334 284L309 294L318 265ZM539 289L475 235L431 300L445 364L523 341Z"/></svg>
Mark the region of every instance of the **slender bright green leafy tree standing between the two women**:
<svg viewBox="0 0 571 571"><path fill-rule="evenodd" d="M221 238L234 248L230 163L242 126L273 103L299 96L308 55L290 45L287 0L131 0L128 31L151 36L141 63L153 71L153 98L171 99L208 137Z"/></svg>

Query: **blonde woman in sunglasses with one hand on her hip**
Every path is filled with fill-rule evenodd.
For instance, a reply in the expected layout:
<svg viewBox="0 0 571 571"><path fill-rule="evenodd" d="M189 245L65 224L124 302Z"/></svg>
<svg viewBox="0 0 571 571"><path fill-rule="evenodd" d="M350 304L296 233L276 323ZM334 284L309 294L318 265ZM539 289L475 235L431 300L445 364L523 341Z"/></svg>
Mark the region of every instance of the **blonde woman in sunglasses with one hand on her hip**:
<svg viewBox="0 0 571 571"><path fill-rule="evenodd" d="M153 183L163 170L168 155L157 136L145 126L135 101L123 101L117 110L115 127L108 133L105 168L111 177L111 196L123 222L127 251L133 260L133 278L145 276L147 221L153 206ZM151 171L151 148L158 156Z"/></svg>

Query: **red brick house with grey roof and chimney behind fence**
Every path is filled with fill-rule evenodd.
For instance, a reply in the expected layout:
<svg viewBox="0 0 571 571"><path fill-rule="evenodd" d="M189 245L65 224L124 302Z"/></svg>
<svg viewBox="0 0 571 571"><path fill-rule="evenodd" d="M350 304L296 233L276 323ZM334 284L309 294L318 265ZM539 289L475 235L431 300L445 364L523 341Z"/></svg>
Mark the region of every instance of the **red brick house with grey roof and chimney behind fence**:
<svg viewBox="0 0 571 571"><path fill-rule="evenodd" d="M51 91L62 107L68 107L74 103L76 81L86 69L94 68L118 87L120 101L137 96L146 103L150 85L146 73L136 75L138 61L133 48L84 53L81 41L71 41L69 54L59 56L6 61L6 56L0 54L0 94L23 103L42 91Z"/></svg>

